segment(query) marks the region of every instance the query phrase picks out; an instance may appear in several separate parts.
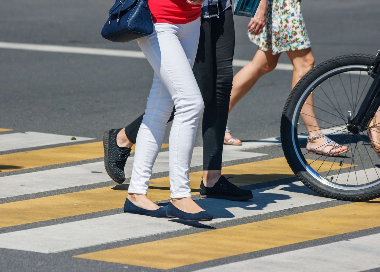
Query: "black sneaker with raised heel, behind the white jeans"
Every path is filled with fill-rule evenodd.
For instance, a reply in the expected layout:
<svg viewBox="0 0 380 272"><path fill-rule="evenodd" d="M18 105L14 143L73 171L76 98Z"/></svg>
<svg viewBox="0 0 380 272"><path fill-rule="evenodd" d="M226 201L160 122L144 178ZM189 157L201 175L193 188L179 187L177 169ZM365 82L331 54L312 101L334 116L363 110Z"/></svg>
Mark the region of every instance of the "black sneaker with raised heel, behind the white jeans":
<svg viewBox="0 0 380 272"><path fill-rule="evenodd" d="M116 143L116 136L122 129L107 130L103 134L104 167L112 180L119 184L125 181L124 166L131 148L120 147Z"/></svg>

